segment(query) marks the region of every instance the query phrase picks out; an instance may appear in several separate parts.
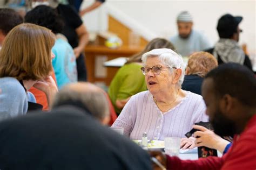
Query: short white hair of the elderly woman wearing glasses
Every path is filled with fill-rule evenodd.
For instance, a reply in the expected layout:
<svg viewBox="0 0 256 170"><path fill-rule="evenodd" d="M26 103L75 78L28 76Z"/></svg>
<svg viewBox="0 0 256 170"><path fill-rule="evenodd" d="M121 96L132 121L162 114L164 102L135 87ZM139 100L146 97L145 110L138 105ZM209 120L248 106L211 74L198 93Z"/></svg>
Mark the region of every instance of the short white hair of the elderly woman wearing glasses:
<svg viewBox="0 0 256 170"><path fill-rule="evenodd" d="M181 69L181 76L179 77L178 85L181 87L185 76L185 65L182 57L176 52L172 51L172 49L168 48L158 48L152 49L149 52L146 52L142 55L142 62L145 65L147 58L150 57L158 57L159 60L166 66L170 67L172 70L173 67Z"/></svg>

